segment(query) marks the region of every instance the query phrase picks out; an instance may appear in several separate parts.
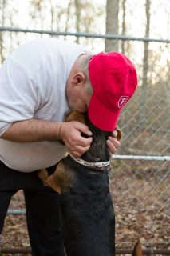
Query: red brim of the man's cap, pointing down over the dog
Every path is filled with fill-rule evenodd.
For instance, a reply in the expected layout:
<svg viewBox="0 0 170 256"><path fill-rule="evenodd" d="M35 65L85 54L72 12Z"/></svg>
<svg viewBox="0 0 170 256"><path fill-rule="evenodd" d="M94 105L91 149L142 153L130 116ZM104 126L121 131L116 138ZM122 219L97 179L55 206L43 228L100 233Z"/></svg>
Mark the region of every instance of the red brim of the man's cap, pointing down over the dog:
<svg viewBox="0 0 170 256"><path fill-rule="evenodd" d="M88 114L89 120L94 126L101 130L112 131L117 125L120 110L113 112L107 109L105 105L99 101L96 94L93 93L89 102Z"/></svg>

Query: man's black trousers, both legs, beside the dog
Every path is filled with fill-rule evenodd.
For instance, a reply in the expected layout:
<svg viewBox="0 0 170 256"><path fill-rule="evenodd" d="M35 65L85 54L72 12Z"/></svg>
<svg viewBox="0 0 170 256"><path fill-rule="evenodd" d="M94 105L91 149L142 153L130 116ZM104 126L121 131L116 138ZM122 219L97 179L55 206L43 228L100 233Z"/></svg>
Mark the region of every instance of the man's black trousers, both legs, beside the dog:
<svg viewBox="0 0 170 256"><path fill-rule="evenodd" d="M54 170L55 166L49 167L49 174ZM18 190L24 191L32 255L63 256L60 196L42 184L38 171L22 173L0 162L0 233L10 199Z"/></svg>

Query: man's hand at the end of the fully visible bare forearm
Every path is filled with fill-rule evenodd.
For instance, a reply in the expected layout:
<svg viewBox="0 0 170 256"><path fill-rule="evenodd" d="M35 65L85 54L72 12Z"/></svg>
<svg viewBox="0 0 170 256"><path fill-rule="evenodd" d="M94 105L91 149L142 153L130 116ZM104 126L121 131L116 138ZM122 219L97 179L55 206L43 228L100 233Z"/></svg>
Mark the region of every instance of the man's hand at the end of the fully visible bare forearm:
<svg viewBox="0 0 170 256"><path fill-rule="evenodd" d="M65 142L65 146L68 148L69 152L76 158L88 151L92 142L91 137L84 138L81 136L81 133L92 136L89 127L81 122L72 121L61 123L59 137Z"/></svg>

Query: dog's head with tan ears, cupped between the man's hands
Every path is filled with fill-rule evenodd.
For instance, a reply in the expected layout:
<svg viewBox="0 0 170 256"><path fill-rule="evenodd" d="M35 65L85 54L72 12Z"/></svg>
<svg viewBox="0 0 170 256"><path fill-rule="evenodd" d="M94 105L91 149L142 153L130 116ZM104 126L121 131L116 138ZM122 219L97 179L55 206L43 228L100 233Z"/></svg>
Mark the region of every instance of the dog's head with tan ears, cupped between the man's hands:
<svg viewBox="0 0 170 256"><path fill-rule="evenodd" d="M92 122L90 122L88 114L87 113L80 113L77 111L71 112L67 118L65 119L65 122L70 121L78 121L84 123L86 126L89 127L89 130L93 133L93 142L90 146L90 149L88 152L83 154L82 158L84 158L87 161L95 161L95 162L102 162L102 161L108 161L110 154L109 149L106 146L106 140L108 139L110 132L107 132L105 130L100 130L96 126L93 126ZM121 130L116 127L117 130L117 140L121 140L122 133ZM82 134L85 138L87 136L85 134Z"/></svg>

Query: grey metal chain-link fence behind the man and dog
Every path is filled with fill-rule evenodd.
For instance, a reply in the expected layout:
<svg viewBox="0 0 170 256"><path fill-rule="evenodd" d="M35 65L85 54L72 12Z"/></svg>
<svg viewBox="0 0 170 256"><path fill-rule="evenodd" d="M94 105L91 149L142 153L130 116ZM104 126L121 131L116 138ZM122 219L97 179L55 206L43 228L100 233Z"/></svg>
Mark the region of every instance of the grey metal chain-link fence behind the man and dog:
<svg viewBox="0 0 170 256"><path fill-rule="evenodd" d="M94 51L100 46L98 51L101 51L107 37L48 31L27 33L7 28L0 28L0 31L2 60L19 43L33 38L75 41L78 36L83 45ZM156 250L157 254L170 254L170 41L116 35L108 35L108 38L118 40L120 50L124 42L125 54L136 65L139 77L136 94L122 110L118 122L124 136L121 148L112 159L110 174L117 219L117 253L124 254L140 237L144 249L150 248L148 254ZM144 43L148 43L147 63L144 62ZM22 191L19 191L10 204L0 242L6 255L12 253L6 248L29 246L24 208ZM28 250L25 255L30 255Z"/></svg>

